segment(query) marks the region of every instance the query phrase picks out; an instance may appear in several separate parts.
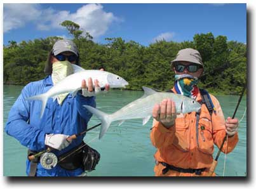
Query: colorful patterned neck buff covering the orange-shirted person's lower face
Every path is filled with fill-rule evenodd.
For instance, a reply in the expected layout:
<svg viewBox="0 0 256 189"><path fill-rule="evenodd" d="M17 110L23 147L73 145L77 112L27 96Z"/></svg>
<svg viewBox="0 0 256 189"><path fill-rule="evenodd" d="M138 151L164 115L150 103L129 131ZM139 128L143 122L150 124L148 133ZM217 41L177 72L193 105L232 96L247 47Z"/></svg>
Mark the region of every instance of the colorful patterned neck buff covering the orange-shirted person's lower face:
<svg viewBox="0 0 256 189"><path fill-rule="evenodd" d="M197 84L198 77L188 74L175 75L174 87L178 94L196 99L199 91L198 86L196 86Z"/></svg>

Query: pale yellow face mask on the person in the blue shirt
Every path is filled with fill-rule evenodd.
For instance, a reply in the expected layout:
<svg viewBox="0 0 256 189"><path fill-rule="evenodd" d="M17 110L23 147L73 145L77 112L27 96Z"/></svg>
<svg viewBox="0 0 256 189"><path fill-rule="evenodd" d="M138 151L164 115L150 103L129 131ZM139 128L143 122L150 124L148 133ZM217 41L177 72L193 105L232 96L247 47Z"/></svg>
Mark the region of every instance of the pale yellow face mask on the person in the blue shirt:
<svg viewBox="0 0 256 189"><path fill-rule="evenodd" d="M53 63L53 72L51 74L51 79L53 80L53 85L56 85L58 82L62 81L68 75L74 73L72 64L68 61L61 61ZM62 102L66 98L67 94L63 93L57 96L58 104L62 105Z"/></svg>

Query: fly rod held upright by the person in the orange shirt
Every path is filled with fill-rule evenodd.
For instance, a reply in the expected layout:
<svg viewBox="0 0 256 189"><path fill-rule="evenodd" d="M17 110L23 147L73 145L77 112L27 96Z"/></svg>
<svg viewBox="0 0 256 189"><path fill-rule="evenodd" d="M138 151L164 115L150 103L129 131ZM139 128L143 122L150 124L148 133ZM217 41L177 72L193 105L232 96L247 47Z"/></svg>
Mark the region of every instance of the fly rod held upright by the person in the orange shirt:
<svg viewBox="0 0 256 189"><path fill-rule="evenodd" d="M243 91L242 91L241 95L239 96L238 104L236 105L236 109L234 110L234 114L232 116L232 119L234 119L234 116L236 115L236 111L238 110L239 104L240 104L240 102L241 102L241 100L243 98L243 93L245 93L245 89L246 89L246 82L245 82L245 86L243 87ZM227 138L227 133L226 133L226 136L224 137L224 140L222 141L222 144L220 145L219 152L217 153L215 159L212 162L212 166L210 167L207 176L212 176L212 174L214 173L215 168L217 167L217 163L218 163L218 159L219 159L219 156L220 156L220 152L221 152L221 150L222 150L222 148L224 146L226 138Z"/></svg>

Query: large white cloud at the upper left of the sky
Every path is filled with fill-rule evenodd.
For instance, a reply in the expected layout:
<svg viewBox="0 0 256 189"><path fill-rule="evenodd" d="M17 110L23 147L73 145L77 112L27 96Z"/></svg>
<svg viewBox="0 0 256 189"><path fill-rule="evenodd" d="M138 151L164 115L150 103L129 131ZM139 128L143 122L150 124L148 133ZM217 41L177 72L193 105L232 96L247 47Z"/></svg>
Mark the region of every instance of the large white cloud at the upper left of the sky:
<svg viewBox="0 0 256 189"><path fill-rule="evenodd" d="M27 12L27 15L24 12ZM113 13L105 12L101 4L86 4L75 13L67 10L57 11L53 8L38 10L33 4L21 7L20 4L9 4L7 7L4 5L4 32L22 27L28 22L34 22L38 30L65 29L60 25L64 20L79 24L80 29L97 38L105 34L111 23L119 21L119 18Z"/></svg>

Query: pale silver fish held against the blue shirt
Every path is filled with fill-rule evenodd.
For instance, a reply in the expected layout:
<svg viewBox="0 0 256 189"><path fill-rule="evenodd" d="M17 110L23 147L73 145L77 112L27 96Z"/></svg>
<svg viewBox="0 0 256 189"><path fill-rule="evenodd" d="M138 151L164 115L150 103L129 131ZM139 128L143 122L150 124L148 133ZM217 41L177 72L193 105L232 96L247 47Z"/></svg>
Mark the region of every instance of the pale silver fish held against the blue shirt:
<svg viewBox="0 0 256 189"><path fill-rule="evenodd" d="M93 81L97 79L100 88L104 88L105 84L109 84L110 88L124 88L126 85L128 85L128 82L125 81L125 79L109 72L101 70L84 70L84 68L81 68L74 64L72 64L72 67L74 70L74 74L65 77L65 79L58 82L46 93L27 98L27 100L42 101L40 118L44 114L44 109L46 107L48 98L52 97L53 100L56 100L58 94L62 93L71 93L73 97L76 96L77 91L81 90L81 84L83 79L85 79L86 81L88 81L89 77L91 77Z"/></svg>

